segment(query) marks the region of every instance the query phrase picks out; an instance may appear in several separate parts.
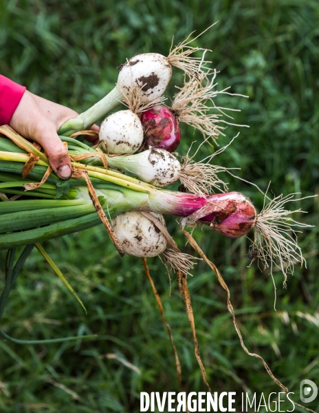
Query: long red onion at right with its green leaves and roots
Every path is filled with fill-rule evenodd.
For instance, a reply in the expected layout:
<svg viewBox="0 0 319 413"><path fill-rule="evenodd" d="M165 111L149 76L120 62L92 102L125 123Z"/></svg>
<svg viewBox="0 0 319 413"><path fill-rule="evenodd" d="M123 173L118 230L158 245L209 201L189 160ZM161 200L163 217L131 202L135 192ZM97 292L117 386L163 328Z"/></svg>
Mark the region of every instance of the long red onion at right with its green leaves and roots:
<svg viewBox="0 0 319 413"><path fill-rule="evenodd" d="M74 173L74 178L63 182L65 187L61 193L61 181L54 173L50 173L43 183L43 174L49 166L44 154L32 149L32 145L25 144L23 138L5 127L0 127L0 133L10 137L10 140L0 138L1 192L7 196L23 194L31 197L30 200L0 203L0 249L50 240L100 223L85 180L76 178ZM74 140L73 145L80 147L83 144ZM28 179L22 180L21 171L29 160L30 151L40 159L35 162ZM100 152L91 149L88 155L93 159L99 158ZM307 225L287 217L292 211L284 208L292 200L292 195L275 198L257 214L254 204L238 192L198 196L159 189L104 167L81 162L72 162L72 165L74 171L87 171L100 205L109 218L129 211L177 215L182 218L182 226L207 225L232 238L255 229L256 246L259 248L257 255L265 265L270 259L287 274L294 262L304 262L300 247L289 235L289 229ZM25 188L32 190L23 191Z"/></svg>

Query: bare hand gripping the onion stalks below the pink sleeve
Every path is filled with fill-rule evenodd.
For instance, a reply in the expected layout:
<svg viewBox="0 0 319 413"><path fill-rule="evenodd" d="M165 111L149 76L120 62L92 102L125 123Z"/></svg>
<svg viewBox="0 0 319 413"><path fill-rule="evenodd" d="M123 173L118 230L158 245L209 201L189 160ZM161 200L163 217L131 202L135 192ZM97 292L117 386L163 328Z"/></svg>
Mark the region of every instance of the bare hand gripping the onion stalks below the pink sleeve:
<svg viewBox="0 0 319 413"><path fill-rule="evenodd" d="M67 179L72 174L71 160L57 131L63 123L76 116L78 114L74 110L26 90L10 120L10 127L25 138L38 142L47 154L56 175ZM91 130L98 131L99 127L93 125ZM88 136L87 140L96 142L96 138L92 136Z"/></svg>

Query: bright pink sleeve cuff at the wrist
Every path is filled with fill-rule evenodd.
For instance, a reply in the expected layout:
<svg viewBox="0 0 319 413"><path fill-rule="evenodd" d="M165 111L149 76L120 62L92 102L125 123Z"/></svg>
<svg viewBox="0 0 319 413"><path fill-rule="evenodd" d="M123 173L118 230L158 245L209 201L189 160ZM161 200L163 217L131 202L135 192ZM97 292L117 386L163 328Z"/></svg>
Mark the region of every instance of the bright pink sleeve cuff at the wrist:
<svg viewBox="0 0 319 413"><path fill-rule="evenodd" d="M0 125L9 125L25 89L0 74Z"/></svg>

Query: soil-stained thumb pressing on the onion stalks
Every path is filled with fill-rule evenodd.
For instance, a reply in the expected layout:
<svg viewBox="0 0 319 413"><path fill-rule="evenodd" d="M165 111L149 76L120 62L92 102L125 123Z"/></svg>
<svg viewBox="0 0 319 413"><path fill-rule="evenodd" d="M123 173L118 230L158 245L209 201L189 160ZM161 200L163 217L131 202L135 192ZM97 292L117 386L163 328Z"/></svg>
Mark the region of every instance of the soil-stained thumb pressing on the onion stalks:
<svg viewBox="0 0 319 413"><path fill-rule="evenodd" d="M42 135L41 138L36 139L36 142L39 142L43 147L56 175L61 179L70 178L72 175L72 167L69 152L62 140L58 137L58 134L53 132L50 136Z"/></svg>

